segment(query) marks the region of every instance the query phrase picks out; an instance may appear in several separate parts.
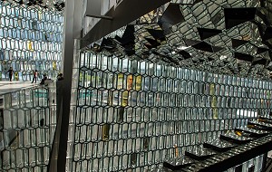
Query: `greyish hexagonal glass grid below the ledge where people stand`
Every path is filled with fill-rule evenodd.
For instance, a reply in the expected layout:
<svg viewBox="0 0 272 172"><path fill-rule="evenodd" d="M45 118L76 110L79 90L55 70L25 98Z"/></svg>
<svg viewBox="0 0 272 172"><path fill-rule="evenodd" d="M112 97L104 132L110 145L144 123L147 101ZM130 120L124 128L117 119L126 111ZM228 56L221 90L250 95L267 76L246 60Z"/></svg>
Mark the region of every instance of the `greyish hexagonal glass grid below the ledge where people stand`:
<svg viewBox="0 0 272 172"><path fill-rule="evenodd" d="M30 88L0 96L4 100L0 171L47 170L56 126L54 108L49 101L53 92Z"/></svg>

